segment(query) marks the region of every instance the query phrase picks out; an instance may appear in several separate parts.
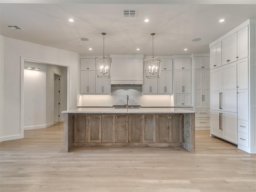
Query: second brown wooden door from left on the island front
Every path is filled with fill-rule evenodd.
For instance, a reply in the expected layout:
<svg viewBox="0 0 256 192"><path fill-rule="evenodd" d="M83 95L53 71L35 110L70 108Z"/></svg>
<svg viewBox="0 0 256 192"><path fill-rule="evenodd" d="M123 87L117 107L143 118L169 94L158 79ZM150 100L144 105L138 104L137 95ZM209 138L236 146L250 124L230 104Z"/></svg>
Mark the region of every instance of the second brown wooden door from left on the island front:
<svg viewBox="0 0 256 192"><path fill-rule="evenodd" d="M88 121L86 126L88 126L88 142L101 142L101 115L90 115L87 116L87 118Z"/></svg>

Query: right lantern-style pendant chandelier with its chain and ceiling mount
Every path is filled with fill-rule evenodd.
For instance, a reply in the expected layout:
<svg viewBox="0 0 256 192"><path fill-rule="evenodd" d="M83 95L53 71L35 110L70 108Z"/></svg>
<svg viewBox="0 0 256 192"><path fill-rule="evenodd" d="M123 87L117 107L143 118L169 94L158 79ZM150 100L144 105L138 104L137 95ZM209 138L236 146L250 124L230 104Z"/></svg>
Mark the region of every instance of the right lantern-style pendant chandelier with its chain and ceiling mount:
<svg viewBox="0 0 256 192"><path fill-rule="evenodd" d="M154 57L154 35L155 33L151 33L152 35L152 58L144 58L144 71L146 73L147 78L159 78L161 72L161 64L162 61L160 57Z"/></svg>

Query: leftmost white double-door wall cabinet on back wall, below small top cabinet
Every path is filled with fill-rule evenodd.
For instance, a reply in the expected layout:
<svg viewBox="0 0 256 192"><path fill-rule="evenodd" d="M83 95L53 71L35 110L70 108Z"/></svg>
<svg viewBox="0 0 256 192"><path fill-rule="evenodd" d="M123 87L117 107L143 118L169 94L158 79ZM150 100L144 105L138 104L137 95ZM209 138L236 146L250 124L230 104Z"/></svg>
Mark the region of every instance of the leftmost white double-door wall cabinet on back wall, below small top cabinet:
<svg viewBox="0 0 256 192"><path fill-rule="evenodd" d="M81 70L80 76L80 91L81 93L94 94L95 93L95 71Z"/></svg>

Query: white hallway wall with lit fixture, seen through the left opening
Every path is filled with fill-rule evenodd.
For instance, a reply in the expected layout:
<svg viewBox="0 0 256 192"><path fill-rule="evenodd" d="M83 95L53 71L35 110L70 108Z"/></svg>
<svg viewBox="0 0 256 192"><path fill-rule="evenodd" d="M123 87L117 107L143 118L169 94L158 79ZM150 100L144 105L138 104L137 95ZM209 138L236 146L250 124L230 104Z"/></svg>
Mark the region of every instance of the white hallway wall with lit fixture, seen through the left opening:
<svg viewBox="0 0 256 192"><path fill-rule="evenodd" d="M29 70L26 67L40 68ZM24 62L24 130L46 127L46 65Z"/></svg>

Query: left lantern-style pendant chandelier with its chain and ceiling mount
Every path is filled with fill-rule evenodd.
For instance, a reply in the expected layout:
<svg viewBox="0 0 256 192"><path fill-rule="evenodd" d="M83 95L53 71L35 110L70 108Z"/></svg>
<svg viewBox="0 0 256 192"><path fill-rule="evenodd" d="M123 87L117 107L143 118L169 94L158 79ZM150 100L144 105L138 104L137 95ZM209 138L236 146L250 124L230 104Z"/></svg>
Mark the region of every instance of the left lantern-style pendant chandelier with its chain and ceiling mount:
<svg viewBox="0 0 256 192"><path fill-rule="evenodd" d="M105 43L104 36L106 35L106 33L101 33L101 34L103 35L103 57L95 58L97 77L110 78L112 58L105 57L104 55L104 43Z"/></svg>

